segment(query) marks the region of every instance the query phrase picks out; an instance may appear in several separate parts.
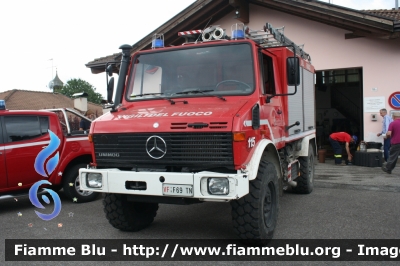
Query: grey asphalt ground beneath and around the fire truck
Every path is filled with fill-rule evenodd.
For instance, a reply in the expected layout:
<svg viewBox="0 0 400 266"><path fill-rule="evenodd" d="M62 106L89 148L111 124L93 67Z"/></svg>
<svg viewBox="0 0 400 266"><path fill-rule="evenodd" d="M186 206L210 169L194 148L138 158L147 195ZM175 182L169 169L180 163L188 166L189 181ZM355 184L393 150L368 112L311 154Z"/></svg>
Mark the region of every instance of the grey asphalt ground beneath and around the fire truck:
<svg viewBox="0 0 400 266"><path fill-rule="evenodd" d="M400 239L400 165L391 175L380 167L317 163L315 189L309 195L285 193L280 198L276 239ZM27 197L0 204L0 265L132 265L135 262L5 262L5 239L230 239L229 203L187 206L161 204L154 223L139 232L111 227L102 199L75 204L60 193L61 214L42 221ZM371 200L372 199L372 200ZM47 207L46 207L47 208ZM51 206L48 206L51 209ZM22 216L17 213L23 214ZM73 214L72 216L70 214ZM33 227L27 226L33 223ZM62 227L58 227L61 223ZM136 265L243 265L243 262L137 262ZM394 265L395 262L268 262L268 265ZM251 262L265 265L266 262ZM398 264L398 263L397 263ZM396 264L396 265L397 265Z"/></svg>

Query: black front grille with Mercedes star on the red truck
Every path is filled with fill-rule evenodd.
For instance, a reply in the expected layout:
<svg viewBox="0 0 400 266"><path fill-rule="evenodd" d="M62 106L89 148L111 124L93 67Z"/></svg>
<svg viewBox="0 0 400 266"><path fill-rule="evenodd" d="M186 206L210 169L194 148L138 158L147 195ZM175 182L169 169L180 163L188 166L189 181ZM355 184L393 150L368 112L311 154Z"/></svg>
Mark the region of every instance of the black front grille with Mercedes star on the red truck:
<svg viewBox="0 0 400 266"><path fill-rule="evenodd" d="M233 166L232 133L95 134L99 167Z"/></svg>

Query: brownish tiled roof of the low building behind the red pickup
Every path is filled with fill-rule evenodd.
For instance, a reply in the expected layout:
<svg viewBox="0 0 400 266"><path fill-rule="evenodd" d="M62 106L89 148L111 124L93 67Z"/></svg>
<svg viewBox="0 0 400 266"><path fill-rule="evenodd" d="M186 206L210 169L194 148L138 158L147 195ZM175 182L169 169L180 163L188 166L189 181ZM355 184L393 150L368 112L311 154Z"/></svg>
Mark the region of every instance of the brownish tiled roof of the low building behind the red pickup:
<svg viewBox="0 0 400 266"><path fill-rule="evenodd" d="M6 101L8 110L40 110L47 108L74 109L74 99L63 94L52 92L14 89L0 92L0 99ZM96 116L103 114L102 106L99 104L88 102L88 109L95 110Z"/></svg>

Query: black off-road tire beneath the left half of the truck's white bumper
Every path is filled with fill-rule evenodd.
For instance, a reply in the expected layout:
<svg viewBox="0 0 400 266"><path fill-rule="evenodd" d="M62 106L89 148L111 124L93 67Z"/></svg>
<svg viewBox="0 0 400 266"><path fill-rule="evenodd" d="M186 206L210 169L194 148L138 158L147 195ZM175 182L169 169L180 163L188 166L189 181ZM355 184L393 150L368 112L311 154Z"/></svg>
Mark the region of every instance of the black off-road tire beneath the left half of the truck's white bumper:
<svg viewBox="0 0 400 266"><path fill-rule="evenodd" d="M108 222L122 231L139 231L149 226L157 215L158 203L127 201L123 194L106 194L103 199Z"/></svg>

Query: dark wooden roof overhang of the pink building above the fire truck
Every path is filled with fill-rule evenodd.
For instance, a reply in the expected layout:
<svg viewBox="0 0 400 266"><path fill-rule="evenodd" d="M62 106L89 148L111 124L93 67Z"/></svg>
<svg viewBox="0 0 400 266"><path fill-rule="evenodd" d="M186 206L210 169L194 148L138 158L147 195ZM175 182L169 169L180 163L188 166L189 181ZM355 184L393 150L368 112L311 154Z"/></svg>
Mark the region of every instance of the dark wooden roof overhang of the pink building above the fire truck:
<svg viewBox="0 0 400 266"><path fill-rule="evenodd" d="M320 22L349 31L345 38L371 37L395 39L400 37L399 21L377 16L316 0L247 0L249 3L289 13L298 17ZM177 32L203 29L233 10L229 0L197 0L150 34L133 44L131 53L151 48L154 34L164 33L166 46L176 45L180 37ZM86 64L92 73L102 73L111 56ZM120 53L113 55L112 62L119 64Z"/></svg>

